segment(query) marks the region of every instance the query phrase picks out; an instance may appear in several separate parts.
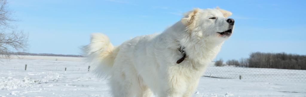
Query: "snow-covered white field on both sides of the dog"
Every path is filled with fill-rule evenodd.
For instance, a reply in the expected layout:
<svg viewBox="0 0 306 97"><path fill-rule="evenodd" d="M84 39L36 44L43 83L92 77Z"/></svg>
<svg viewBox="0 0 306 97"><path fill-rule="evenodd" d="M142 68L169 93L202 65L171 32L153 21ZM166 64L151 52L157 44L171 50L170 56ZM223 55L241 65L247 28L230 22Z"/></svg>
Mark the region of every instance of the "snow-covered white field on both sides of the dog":
<svg viewBox="0 0 306 97"><path fill-rule="evenodd" d="M76 57L22 56L22 59L1 59L0 64L0 97L110 97L107 81L98 80L87 72L88 64ZM25 64L28 65L24 70ZM67 71L65 71L67 68ZM207 73L221 75L222 67L209 67ZM234 67L233 67L234 68ZM243 70L247 69L247 70ZM281 74L288 70L240 68L239 71L228 70L229 74L252 75L254 77ZM248 72L241 72L241 71ZM293 75L305 75L305 71ZM209 75L211 75L209 74ZM207 74L206 74L207 75ZM257 76L256 76L257 75ZM287 76L283 75L282 79ZM269 76L264 77L269 78ZM260 79L260 77L259 77ZM245 79L218 79L202 77L194 97L306 97L306 83L303 81L275 81Z"/></svg>

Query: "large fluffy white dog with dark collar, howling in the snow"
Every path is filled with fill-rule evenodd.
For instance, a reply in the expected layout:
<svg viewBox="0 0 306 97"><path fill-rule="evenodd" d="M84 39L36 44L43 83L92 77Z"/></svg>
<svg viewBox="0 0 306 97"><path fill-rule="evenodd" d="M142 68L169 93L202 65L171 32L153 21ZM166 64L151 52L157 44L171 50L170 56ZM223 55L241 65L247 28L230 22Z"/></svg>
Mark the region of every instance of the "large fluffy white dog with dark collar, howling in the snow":
<svg viewBox="0 0 306 97"><path fill-rule="evenodd" d="M98 76L109 78L114 97L190 97L234 29L231 14L196 8L163 33L116 47L106 35L93 33L85 51Z"/></svg>

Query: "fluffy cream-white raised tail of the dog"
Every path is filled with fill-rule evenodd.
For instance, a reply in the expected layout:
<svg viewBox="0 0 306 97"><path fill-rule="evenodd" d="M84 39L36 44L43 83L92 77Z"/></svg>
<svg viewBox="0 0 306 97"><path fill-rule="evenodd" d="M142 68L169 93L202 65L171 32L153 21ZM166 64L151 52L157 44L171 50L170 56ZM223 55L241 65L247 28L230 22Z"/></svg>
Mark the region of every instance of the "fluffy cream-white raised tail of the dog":
<svg viewBox="0 0 306 97"><path fill-rule="evenodd" d="M91 64L91 71L99 78L107 78L112 70L118 48L102 33L92 33L90 44L83 48L84 56Z"/></svg>

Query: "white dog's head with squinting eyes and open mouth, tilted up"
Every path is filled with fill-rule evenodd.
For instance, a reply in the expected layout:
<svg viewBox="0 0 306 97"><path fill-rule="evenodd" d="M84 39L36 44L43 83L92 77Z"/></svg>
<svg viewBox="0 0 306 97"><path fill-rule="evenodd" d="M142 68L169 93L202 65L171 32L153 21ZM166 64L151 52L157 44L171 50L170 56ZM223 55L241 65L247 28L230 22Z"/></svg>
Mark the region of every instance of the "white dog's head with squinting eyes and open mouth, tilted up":
<svg viewBox="0 0 306 97"><path fill-rule="evenodd" d="M234 19L227 18L231 12L220 9L193 9L181 19L188 33L209 39L224 40L231 36Z"/></svg>

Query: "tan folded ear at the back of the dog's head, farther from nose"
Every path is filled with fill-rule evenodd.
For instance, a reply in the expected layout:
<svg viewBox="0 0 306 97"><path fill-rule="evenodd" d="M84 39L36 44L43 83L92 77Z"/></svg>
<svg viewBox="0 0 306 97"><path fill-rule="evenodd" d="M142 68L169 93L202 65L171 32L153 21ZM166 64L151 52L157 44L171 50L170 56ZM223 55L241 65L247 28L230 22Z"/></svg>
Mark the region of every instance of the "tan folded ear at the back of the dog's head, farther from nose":
<svg viewBox="0 0 306 97"><path fill-rule="evenodd" d="M198 13L199 10L200 10L199 8L195 8L195 9L183 14L184 17L181 19L181 22L186 26L192 25L194 23L196 13Z"/></svg>

